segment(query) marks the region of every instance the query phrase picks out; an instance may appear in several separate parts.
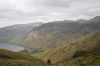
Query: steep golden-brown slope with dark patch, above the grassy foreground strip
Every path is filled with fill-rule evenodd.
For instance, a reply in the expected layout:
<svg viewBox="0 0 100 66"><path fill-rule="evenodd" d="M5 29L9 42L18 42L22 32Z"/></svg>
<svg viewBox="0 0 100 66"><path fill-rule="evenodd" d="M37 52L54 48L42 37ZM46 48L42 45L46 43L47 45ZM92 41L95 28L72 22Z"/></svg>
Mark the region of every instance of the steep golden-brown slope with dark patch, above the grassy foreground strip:
<svg viewBox="0 0 100 66"><path fill-rule="evenodd" d="M64 46L49 52L42 59L46 62L56 63L87 55L100 56L100 31L66 43Z"/></svg>

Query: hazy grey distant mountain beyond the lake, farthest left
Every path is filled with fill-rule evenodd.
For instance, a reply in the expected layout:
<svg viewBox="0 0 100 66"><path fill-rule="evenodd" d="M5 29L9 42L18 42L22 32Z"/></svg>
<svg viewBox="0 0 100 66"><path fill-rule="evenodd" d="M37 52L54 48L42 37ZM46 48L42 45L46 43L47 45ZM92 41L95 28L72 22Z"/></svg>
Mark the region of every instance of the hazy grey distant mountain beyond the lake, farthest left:
<svg viewBox="0 0 100 66"><path fill-rule="evenodd" d="M29 33L34 27L41 25L41 22L30 24L17 24L0 28L0 41L7 41L14 37L21 37Z"/></svg>

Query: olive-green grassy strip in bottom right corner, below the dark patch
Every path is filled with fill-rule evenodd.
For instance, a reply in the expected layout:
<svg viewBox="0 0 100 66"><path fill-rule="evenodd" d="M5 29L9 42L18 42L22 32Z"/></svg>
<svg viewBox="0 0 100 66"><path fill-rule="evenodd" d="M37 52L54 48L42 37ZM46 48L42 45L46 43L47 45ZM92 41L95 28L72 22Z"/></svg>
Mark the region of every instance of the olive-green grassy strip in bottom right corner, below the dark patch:
<svg viewBox="0 0 100 66"><path fill-rule="evenodd" d="M64 60L56 63L54 66L100 66L100 56L87 56Z"/></svg>

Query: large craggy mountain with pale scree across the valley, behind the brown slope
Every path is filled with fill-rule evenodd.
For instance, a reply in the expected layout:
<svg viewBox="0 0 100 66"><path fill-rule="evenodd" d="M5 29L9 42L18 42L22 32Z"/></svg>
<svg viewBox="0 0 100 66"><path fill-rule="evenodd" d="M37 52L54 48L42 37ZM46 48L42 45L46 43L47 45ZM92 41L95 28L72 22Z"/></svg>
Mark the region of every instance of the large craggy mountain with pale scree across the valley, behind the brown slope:
<svg viewBox="0 0 100 66"><path fill-rule="evenodd" d="M100 29L100 16L90 20L65 20L42 24L19 41L26 48L51 49Z"/></svg>

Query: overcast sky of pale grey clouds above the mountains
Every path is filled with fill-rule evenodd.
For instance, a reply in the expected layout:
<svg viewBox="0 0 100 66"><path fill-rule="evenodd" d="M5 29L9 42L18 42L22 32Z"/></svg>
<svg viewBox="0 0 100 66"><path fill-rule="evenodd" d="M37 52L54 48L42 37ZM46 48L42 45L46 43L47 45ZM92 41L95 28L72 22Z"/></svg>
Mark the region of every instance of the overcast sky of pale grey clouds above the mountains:
<svg viewBox="0 0 100 66"><path fill-rule="evenodd" d="M90 19L100 0L0 0L0 27L32 22Z"/></svg>

